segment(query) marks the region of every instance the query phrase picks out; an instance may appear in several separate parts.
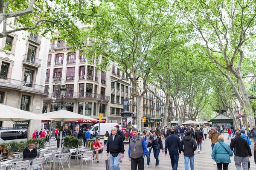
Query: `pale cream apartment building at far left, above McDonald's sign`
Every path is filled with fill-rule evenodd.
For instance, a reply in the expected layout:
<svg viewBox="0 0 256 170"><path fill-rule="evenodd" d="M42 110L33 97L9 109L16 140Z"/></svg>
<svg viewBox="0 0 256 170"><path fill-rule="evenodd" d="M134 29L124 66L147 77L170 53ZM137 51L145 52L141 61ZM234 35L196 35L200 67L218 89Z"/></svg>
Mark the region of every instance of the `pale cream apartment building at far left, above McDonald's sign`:
<svg viewBox="0 0 256 170"><path fill-rule="evenodd" d="M10 27L14 28L8 25L7 29ZM0 46L0 103L40 114L44 96L48 96L44 86L48 40L32 32L17 31L1 38ZM25 125L32 134L40 128L40 122L15 122L15 126ZM0 126L12 127L13 122L3 121Z"/></svg>

